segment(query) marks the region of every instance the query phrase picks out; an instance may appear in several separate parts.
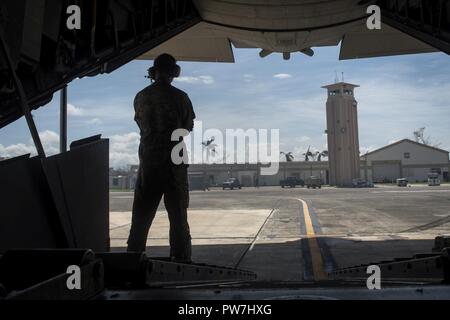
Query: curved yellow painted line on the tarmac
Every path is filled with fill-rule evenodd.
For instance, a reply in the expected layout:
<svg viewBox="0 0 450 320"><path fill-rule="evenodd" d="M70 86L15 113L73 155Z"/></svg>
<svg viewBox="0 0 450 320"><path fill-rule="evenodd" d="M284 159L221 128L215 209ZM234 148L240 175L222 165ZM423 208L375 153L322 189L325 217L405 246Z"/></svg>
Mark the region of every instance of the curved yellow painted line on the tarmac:
<svg viewBox="0 0 450 320"><path fill-rule="evenodd" d="M306 237L308 238L309 252L311 255L311 264L313 267L314 280L326 280L327 274L323 269L322 254L320 252L319 243L317 242L316 233L309 213L308 204L302 199L297 199L303 205L303 217L305 219Z"/></svg>

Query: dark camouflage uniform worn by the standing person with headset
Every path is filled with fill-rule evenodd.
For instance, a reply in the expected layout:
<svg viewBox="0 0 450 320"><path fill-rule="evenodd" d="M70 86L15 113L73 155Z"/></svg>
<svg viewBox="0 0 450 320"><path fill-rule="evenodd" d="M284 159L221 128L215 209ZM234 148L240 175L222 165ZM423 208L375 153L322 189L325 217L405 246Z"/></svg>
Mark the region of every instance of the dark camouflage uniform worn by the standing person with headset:
<svg viewBox="0 0 450 320"><path fill-rule="evenodd" d="M188 165L173 164L172 148L179 142L172 142L171 136L176 129L192 131L192 103L183 91L156 82L137 94L134 109L141 144L128 251L145 251L148 231L164 195L170 221L170 255L190 260Z"/></svg>

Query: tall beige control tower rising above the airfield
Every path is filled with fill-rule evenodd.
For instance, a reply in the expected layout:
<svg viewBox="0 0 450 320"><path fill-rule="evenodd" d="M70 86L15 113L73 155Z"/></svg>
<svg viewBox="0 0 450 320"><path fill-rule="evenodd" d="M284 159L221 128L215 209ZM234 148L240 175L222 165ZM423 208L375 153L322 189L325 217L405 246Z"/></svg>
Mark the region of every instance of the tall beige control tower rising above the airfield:
<svg viewBox="0 0 450 320"><path fill-rule="evenodd" d="M347 187L359 178L358 103L354 89L359 86L338 82L328 90L327 135L330 185Z"/></svg>

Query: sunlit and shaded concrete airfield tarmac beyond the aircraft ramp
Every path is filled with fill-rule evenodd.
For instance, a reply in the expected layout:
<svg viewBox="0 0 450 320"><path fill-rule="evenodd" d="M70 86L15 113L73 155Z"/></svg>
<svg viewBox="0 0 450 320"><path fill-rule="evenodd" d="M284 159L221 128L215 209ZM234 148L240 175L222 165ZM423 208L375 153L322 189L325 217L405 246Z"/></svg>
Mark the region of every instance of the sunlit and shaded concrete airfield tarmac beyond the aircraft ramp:
<svg viewBox="0 0 450 320"><path fill-rule="evenodd" d="M110 235L126 247L132 192L110 194ZM431 252L450 234L450 185L368 189L280 187L191 192L193 260L255 271L260 280L321 280L336 267ZM147 241L169 255L163 204Z"/></svg>

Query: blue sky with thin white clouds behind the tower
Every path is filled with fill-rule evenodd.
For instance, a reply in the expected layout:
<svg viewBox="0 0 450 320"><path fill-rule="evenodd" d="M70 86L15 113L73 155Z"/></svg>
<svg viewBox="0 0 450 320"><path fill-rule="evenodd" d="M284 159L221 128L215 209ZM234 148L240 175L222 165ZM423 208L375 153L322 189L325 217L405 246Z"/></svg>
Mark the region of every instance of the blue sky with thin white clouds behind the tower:
<svg viewBox="0 0 450 320"><path fill-rule="evenodd" d="M358 84L362 152L411 138L426 127L440 147L450 149L450 58L443 53L339 61L339 47L316 48L310 58L279 54L264 59L253 49L235 49L234 64L180 62L174 85L186 91L204 128L280 129L281 151L296 159L311 145L326 148L326 92L335 72ZM102 133L111 139L111 165L137 162L139 135L133 121L135 94L148 85L151 61L133 61L108 75L69 86L69 140ZM44 147L58 148L59 94L34 112ZM24 119L0 131L0 156L34 152Z"/></svg>

